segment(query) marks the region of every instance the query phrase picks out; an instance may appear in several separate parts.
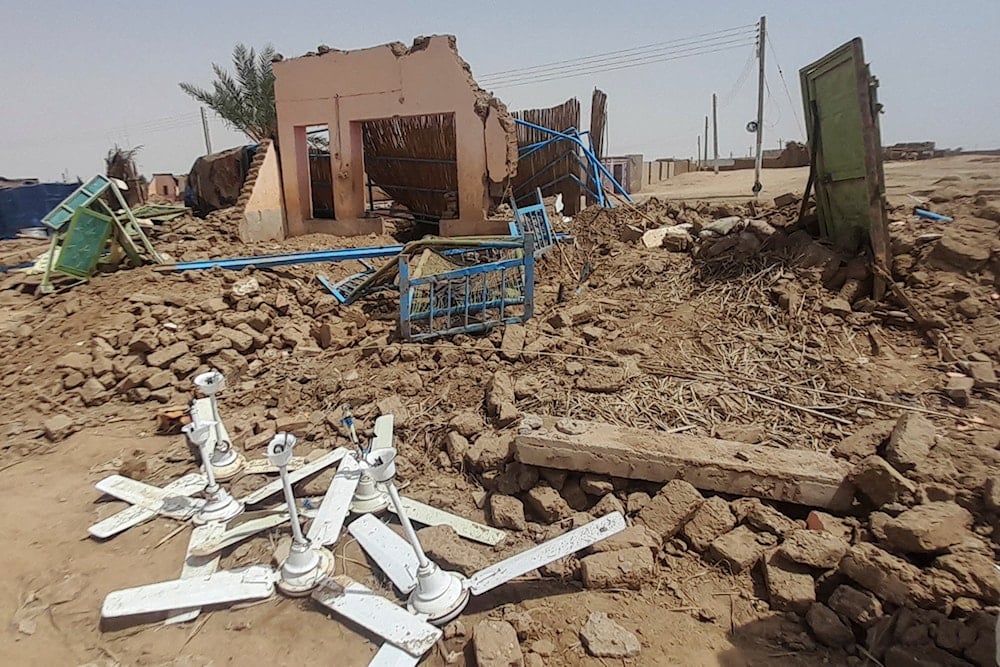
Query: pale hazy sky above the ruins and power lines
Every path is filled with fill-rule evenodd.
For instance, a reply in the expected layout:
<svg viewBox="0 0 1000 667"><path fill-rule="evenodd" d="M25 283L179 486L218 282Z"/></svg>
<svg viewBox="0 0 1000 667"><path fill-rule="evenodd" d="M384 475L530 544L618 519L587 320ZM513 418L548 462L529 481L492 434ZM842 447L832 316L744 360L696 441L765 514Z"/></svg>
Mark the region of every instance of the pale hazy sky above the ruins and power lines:
<svg viewBox="0 0 1000 667"><path fill-rule="evenodd" d="M177 83L207 85L211 63L229 63L241 41L270 42L293 57L319 44L353 49L452 33L473 74L484 78L752 24L761 15L774 47L765 59L766 148L804 138L798 69L856 36L881 83L884 143L1000 147L998 0L34 0L0 11L0 175L86 179L103 170L116 142L143 146L138 162L147 175L186 172L204 141L198 105ZM511 109L576 96L586 119L591 91L600 87L608 93L608 152L647 159L693 156L716 92L719 153L746 155L752 139L744 126L756 109L752 49L493 90ZM243 143L219 119L211 133L215 149Z"/></svg>

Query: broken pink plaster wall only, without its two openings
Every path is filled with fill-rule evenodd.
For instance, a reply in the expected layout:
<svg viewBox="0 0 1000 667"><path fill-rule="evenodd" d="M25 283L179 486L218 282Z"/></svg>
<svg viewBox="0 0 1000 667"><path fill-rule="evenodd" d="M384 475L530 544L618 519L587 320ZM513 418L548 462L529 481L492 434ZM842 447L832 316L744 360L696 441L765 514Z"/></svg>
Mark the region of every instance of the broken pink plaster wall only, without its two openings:
<svg viewBox="0 0 1000 667"><path fill-rule="evenodd" d="M334 221L309 219L307 126L329 126L334 208L337 221L350 221L364 212L361 122L436 113L455 114L460 219L447 229L488 229L489 181L514 173L517 144L506 107L475 84L467 67L448 35L417 38L410 48L393 43L275 62L289 236L345 231Z"/></svg>

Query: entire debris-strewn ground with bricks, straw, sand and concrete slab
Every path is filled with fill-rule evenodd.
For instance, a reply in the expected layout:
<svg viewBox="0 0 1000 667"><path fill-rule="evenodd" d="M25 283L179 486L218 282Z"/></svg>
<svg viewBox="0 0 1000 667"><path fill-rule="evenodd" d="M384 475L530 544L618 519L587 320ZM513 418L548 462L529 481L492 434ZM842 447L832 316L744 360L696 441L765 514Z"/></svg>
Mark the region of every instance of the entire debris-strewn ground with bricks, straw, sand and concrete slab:
<svg viewBox="0 0 1000 667"><path fill-rule="evenodd" d="M365 435L392 414L400 488L507 532L490 548L422 528L446 569L475 572L627 516L625 531L478 598L421 664L994 664L1000 169L968 160L922 162L940 180L910 190L953 222L893 197L894 289L882 300L865 262L795 224L796 197L587 208L555 223L573 240L539 260L533 318L426 343L400 340L388 296L339 305L316 274L356 270L343 264L142 267L43 298L36 277L2 274L0 655L371 658L363 633L302 613L308 599L176 626L99 624L109 591L177 576L185 537L161 518L88 538L123 507L93 484L118 473L162 486L196 471L177 415L192 378L218 369L247 458L280 432L300 454L348 446L344 404ZM952 165L987 175L949 180ZM244 245L238 217L183 216L148 233L176 261L330 247L319 235ZM390 231L336 243L410 233ZM18 240L0 252L23 261L41 249ZM296 491L322 496L332 476ZM265 481L227 485L243 496ZM222 562L266 562L286 535L273 529ZM338 573L389 589L353 540L333 550Z"/></svg>

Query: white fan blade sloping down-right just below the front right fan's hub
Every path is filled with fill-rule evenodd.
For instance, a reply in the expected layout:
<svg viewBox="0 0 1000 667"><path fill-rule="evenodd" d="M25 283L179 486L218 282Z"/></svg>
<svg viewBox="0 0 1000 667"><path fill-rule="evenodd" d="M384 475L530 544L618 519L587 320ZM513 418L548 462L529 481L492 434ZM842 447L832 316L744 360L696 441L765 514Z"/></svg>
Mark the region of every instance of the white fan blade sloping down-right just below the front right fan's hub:
<svg viewBox="0 0 1000 667"><path fill-rule="evenodd" d="M345 576L327 577L313 599L397 648L419 658L441 638L441 629Z"/></svg>

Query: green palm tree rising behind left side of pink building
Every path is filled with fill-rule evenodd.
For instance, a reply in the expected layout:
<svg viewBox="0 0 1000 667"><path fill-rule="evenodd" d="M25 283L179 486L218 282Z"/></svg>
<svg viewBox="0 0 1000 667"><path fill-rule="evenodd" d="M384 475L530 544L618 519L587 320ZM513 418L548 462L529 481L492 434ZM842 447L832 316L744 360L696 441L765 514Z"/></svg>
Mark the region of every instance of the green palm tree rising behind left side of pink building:
<svg viewBox="0 0 1000 667"><path fill-rule="evenodd" d="M278 120L274 108L274 73L271 71L274 55L274 47L270 44L260 53L237 44L233 48L235 76L221 65L212 63L215 81L211 90L190 83L180 84L181 90L254 141L275 139Z"/></svg>

